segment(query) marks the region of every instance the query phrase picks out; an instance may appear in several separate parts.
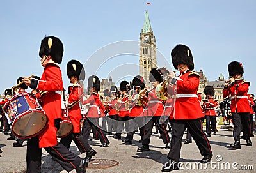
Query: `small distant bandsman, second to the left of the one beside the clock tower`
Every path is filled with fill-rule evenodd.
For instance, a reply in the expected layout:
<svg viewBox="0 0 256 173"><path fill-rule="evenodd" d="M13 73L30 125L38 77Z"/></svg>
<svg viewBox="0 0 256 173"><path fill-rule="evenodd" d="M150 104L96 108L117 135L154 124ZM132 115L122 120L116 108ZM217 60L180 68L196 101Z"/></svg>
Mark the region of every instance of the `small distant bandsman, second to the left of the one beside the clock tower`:
<svg viewBox="0 0 256 173"><path fill-rule="evenodd" d="M111 102L108 102L108 109L109 109L109 112L108 112L108 121L107 121L107 124L108 124L108 133L107 135L112 135L113 133L113 128L114 128L114 131L116 132L116 126L117 126L117 117L118 117L118 110L116 110L116 104L118 104L117 102L117 94L118 94L118 89L116 86L111 86L110 87L110 92L111 92Z"/></svg>

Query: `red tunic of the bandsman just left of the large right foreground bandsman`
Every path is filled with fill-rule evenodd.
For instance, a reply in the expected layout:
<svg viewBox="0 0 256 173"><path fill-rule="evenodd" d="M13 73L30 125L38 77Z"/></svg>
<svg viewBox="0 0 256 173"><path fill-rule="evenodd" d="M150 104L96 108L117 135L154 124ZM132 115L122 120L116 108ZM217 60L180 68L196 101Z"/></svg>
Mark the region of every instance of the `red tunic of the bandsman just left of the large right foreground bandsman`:
<svg viewBox="0 0 256 173"><path fill-rule="evenodd" d="M164 106L162 100L157 98L155 88L148 93L148 116L162 116L164 113Z"/></svg>

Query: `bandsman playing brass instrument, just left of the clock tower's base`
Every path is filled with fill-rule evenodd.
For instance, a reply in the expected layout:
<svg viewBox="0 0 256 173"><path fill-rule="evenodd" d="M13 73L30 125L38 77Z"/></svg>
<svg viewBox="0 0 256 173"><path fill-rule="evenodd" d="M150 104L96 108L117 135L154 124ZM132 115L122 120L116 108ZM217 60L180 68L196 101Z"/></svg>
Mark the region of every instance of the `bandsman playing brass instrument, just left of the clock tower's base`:
<svg viewBox="0 0 256 173"><path fill-rule="evenodd" d="M127 133L125 139L122 140L122 142L124 142L125 144L132 144L133 135L137 130L137 126L139 126L140 129L140 136L143 136L143 105L147 103L147 97L145 96L147 89L145 89L143 77L140 75L134 77L132 79L132 86L137 86L138 88L132 90L133 93L131 97L133 98L136 94L139 94L139 98L136 101L137 105L136 103L134 103L134 100L131 100L132 108L129 114L129 132ZM138 105L138 103L140 105Z"/></svg>

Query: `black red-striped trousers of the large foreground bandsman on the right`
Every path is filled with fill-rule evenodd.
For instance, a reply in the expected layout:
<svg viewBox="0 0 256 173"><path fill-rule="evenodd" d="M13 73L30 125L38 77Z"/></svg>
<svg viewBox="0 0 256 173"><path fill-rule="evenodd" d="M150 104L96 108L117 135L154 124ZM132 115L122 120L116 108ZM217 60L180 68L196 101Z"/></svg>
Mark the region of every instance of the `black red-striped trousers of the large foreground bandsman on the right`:
<svg viewBox="0 0 256 173"><path fill-rule="evenodd" d="M209 140L207 139L203 127L201 119L188 119L188 120L172 120L172 141L171 141L171 150L168 153L167 157L169 159L173 159L176 162L180 160L180 149L182 144L182 137L185 129L188 128L191 136L200 153L204 156L209 156L211 151L211 146L209 144Z"/></svg>

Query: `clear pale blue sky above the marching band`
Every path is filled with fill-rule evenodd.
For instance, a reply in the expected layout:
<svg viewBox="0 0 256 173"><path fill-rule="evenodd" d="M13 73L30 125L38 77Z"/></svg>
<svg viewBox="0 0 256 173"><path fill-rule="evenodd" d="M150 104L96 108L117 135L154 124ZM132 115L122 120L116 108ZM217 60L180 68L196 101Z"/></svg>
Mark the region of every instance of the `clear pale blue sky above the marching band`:
<svg viewBox="0 0 256 173"><path fill-rule="evenodd" d="M93 55L102 47L116 41L139 40L146 2L1 1L0 93L15 86L20 76L42 75L38 50L45 35L58 36L63 41L65 50L60 66L67 88L70 84L66 72L68 61L77 59L84 64L93 57L97 62ZM148 2L152 3L148 11L161 58L170 63L170 50L178 43L188 45L193 53L195 71L202 69L208 80L218 79L220 73L227 79L228 63L241 61L244 79L251 82L249 93L256 93L256 1ZM166 65L166 61L159 66ZM138 56L118 56L109 66L115 68L127 63L138 64ZM117 82L122 80L122 75L138 74L138 68L129 71L131 68L123 67L116 72L102 66L99 77L112 75ZM90 66L85 68L90 69ZM89 75L91 71L86 70L86 77Z"/></svg>

